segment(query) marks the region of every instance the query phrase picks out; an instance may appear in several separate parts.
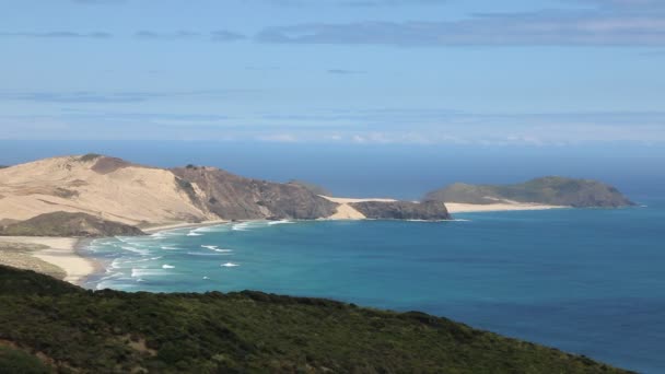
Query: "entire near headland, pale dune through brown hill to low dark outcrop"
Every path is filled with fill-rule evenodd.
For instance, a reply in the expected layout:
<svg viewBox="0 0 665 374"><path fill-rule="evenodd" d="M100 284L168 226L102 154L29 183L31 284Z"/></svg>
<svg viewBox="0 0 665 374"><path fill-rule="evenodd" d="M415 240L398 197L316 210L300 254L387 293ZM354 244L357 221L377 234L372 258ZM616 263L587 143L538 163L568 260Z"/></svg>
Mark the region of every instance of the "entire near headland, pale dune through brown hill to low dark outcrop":
<svg viewBox="0 0 665 374"><path fill-rule="evenodd" d="M448 217L443 204L372 202L354 210L319 192L325 190L303 182L271 183L215 167L163 170L98 154L52 157L0 170L0 235L130 234L129 226L220 219L337 219L340 207L353 210L354 219Z"/></svg>

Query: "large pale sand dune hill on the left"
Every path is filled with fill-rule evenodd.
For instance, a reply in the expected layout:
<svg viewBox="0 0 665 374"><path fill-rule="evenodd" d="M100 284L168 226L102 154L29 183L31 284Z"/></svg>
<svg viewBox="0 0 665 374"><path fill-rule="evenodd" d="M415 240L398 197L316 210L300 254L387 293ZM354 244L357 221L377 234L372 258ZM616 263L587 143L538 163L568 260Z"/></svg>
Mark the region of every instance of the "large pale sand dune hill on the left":
<svg viewBox="0 0 665 374"><path fill-rule="evenodd" d="M57 211L130 225L217 219L195 207L168 171L117 159L96 162L63 156L0 170L0 221Z"/></svg>

